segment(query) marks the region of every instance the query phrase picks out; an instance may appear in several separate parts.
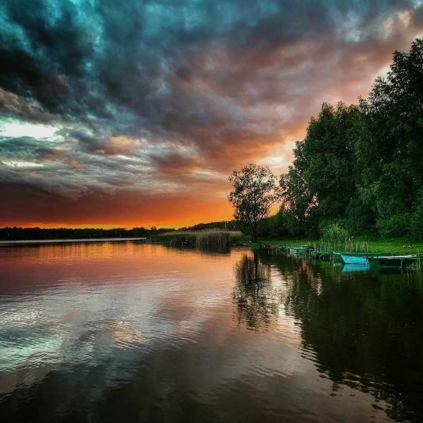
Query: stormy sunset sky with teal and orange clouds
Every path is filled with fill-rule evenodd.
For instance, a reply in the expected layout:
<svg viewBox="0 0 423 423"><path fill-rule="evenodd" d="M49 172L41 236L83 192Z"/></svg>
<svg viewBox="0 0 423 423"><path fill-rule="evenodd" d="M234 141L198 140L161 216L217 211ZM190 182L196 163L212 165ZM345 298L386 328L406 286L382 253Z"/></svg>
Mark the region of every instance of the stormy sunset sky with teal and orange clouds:
<svg viewBox="0 0 423 423"><path fill-rule="evenodd" d="M233 170L422 36L422 0L2 1L0 226L230 220Z"/></svg>

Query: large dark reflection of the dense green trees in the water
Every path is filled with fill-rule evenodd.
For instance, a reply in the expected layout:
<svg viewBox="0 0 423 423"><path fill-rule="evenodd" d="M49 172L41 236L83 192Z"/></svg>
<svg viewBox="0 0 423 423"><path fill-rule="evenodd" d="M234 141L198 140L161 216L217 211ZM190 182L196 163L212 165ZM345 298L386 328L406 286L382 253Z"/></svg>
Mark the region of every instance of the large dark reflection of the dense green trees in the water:
<svg viewBox="0 0 423 423"><path fill-rule="evenodd" d="M298 322L301 348L313 352L318 372L334 382L334 392L347 385L370 393L376 410L379 401L386 401L384 411L395 421L423 421L418 278L395 271L343 274L342 266L332 263L261 253L259 274L271 267L281 275L279 301ZM266 295L272 288L260 292ZM269 298L261 301L266 304ZM277 307L274 300L271 304Z"/></svg>

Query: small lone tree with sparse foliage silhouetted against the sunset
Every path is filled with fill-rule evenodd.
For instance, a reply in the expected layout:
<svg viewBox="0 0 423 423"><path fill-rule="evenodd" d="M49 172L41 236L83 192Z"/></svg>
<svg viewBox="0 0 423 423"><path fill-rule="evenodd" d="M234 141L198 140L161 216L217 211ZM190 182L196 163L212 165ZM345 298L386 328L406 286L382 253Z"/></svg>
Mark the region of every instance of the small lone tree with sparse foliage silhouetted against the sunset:
<svg viewBox="0 0 423 423"><path fill-rule="evenodd" d="M277 178L268 166L255 164L234 170L229 176L234 190L228 200L234 208L234 217L245 231L257 241L260 221L269 215L270 208L282 199L283 189L276 184Z"/></svg>

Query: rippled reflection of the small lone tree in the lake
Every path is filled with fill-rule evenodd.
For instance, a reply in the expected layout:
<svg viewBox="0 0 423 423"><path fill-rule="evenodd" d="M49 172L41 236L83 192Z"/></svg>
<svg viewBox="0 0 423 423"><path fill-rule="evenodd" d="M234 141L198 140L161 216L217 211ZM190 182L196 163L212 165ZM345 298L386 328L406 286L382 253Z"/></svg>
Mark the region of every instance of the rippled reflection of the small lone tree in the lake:
<svg viewBox="0 0 423 423"><path fill-rule="evenodd" d="M260 260L257 251L245 254L235 267L233 301L238 323L248 329L268 329L279 313L279 295L273 287L271 269Z"/></svg>

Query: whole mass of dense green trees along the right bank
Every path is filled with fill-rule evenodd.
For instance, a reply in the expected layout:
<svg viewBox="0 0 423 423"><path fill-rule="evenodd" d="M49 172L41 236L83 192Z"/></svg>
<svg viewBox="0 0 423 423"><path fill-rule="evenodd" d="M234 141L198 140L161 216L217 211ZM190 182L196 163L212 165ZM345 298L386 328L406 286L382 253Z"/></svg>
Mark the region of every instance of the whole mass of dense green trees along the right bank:
<svg viewBox="0 0 423 423"><path fill-rule="evenodd" d="M282 174L282 206L259 235L423 238L423 40L395 51L357 105L323 103Z"/></svg>

